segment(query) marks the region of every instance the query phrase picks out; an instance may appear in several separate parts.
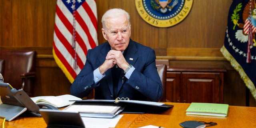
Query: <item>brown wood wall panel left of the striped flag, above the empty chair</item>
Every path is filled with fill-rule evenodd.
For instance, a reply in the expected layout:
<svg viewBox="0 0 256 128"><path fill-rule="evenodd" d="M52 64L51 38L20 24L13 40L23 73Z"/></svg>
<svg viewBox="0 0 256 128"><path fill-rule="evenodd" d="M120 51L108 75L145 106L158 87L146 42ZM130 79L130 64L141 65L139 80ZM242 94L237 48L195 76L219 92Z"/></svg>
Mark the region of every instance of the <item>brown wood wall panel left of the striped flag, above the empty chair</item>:
<svg viewBox="0 0 256 128"><path fill-rule="evenodd" d="M52 46L55 8L55 0L12 0L13 42L6 46Z"/></svg>

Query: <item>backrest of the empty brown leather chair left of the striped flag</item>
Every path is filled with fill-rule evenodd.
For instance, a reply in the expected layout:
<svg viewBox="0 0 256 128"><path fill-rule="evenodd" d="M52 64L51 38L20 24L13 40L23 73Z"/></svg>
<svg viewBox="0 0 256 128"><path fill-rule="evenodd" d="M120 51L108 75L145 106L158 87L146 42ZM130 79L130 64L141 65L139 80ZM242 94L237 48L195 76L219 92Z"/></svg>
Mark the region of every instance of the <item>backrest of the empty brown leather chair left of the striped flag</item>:
<svg viewBox="0 0 256 128"><path fill-rule="evenodd" d="M2 74L4 82L9 83L17 90L22 88L21 75L36 71L36 51L1 50L0 59L3 59L5 63L4 73Z"/></svg>

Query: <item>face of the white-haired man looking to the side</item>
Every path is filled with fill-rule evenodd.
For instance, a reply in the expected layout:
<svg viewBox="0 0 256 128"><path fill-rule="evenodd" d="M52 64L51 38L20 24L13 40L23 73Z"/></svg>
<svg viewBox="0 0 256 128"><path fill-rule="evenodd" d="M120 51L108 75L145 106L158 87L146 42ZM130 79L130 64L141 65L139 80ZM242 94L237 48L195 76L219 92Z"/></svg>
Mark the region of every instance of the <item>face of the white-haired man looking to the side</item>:
<svg viewBox="0 0 256 128"><path fill-rule="evenodd" d="M126 16L106 18L106 29L102 34L108 40L112 50L124 51L129 44L131 30Z"/></svg>

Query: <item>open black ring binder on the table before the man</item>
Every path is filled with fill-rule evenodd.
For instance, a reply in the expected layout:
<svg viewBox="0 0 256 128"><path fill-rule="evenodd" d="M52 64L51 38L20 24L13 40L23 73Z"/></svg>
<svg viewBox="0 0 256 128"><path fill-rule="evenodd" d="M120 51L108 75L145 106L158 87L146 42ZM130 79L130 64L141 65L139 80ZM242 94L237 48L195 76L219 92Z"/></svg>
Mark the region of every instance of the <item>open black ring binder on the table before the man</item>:
<svg viewBox="0 0 256 128"><path fill-rule="evenodd" d="M75 104L92 104L92 103L101 103L101 104L120 104L124 107L122 113L156 113L162 112L169 108L172 108L173 105L164 104L160 102L150 102L150 101L139 101L139 100L129 100L128 98L116 98L116 100L72 100L75 101L72 105Z"/></svg>

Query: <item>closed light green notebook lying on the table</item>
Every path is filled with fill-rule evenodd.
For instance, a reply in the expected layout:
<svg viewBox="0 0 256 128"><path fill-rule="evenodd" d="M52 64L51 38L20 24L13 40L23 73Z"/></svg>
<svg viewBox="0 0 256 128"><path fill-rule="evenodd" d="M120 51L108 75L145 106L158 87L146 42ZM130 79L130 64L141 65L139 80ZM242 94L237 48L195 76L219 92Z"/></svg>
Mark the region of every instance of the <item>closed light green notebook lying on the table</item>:
<svg viewBox="0 0 256 128"><path fill-rule="evenodd" d="M228 115L228 104L193 102L186 110L186 114L226 117Z"/></svg>

